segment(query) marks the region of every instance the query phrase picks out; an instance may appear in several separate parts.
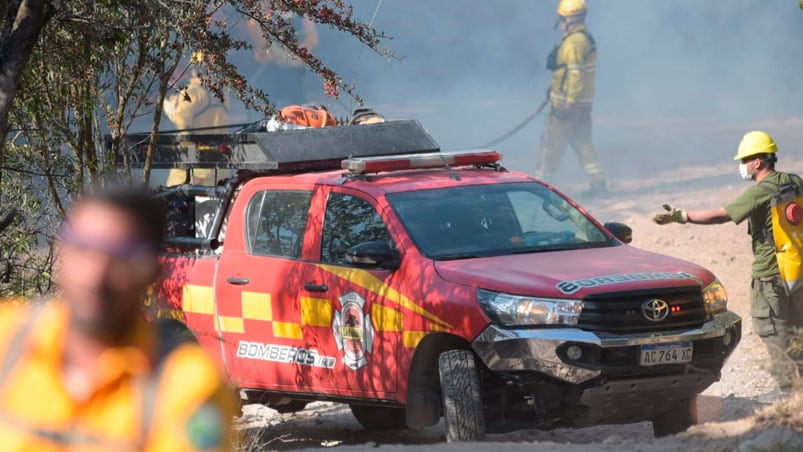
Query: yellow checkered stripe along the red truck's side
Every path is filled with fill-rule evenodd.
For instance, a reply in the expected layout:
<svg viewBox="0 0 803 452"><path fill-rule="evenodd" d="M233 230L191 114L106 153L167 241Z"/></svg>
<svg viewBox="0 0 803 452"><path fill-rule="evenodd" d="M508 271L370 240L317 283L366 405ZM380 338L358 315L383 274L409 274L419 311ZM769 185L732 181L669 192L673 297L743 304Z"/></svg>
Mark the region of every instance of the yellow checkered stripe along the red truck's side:
<svg viewBox="0 0 803 452"><path fill-rule="evenodd" d="M405 300L406 301L406 300ZM184 286L182 309L192 314L214 317L215 331L224 333L245 333L245 321L256 320L270 325L274 337L303 339L303 326L331 327L334 308L326 298L302 297L301 321L282 322L273 319L272 297L269 293L243 291L240 298L241 316L223 316L215 312L214 291L210 286L187 284ZM401 304L407 304L404 301ZM408 305L409 306L409 305ZM399 309L380 304L371 307L371 318L377 332L398 332L406 348L415 348L428 331L405 331L404 315ZM440 319L438 319L440 320ZM429 331L447 331L448 324L443 321L430 321Z"/></svg>

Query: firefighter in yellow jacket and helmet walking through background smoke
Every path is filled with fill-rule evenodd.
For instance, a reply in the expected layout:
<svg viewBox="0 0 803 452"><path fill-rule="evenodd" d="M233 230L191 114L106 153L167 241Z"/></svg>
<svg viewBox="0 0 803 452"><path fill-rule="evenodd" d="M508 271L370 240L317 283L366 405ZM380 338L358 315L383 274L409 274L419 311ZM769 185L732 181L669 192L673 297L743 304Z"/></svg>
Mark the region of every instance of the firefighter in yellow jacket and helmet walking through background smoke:
<svg viewBox="0 0 803 452"><path fill-rule="evenodd" d="M571 145L591 184L583 194L601 196L607 191L605 173L591 142L597 46L585 25L586 13L585 0L561 0L558 5L563 38L547 58L547 69L552 71L551 114L541 135L535 176L554 178L566 146Z"/></svg>

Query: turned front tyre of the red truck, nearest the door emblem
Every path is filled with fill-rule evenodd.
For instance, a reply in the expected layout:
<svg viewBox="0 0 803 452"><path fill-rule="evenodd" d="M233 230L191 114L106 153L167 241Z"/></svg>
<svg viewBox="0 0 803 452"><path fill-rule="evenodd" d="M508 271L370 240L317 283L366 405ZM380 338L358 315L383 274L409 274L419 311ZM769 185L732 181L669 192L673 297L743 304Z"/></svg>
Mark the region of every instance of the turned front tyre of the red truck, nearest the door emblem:
<svg viewBox="0 0 803 452"><path fill-rule="evenodd" d="M485 411L480 375L469 350L449 350L438 359L446 440L450 443L483 441Z"/></svg>

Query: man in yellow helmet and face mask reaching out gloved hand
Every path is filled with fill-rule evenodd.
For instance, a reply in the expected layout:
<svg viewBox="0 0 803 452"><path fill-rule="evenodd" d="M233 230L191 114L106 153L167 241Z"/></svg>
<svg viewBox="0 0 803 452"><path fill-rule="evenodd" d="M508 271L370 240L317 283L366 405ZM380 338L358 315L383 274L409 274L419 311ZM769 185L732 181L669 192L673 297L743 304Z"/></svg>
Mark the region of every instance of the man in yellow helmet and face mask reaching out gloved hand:
<svg viewBox="0 0 803 452"><path fill-rule="evenodd" d="M792 389L796 366L790 356L793 328L803 327L803 281L801 281L801 240L803 230L803 180L796 174L775 170L778 146L763 131L742 138L734 160L745 180L756 184L724 207L685 211L665 204L653 221L669 223L722 224L747 220L753 242L750 316L753 331L761 337L770 354L770 373L778 388ZM781 212L782 211L782 212ZM781 214L779 216L779 213Z"/></svg>

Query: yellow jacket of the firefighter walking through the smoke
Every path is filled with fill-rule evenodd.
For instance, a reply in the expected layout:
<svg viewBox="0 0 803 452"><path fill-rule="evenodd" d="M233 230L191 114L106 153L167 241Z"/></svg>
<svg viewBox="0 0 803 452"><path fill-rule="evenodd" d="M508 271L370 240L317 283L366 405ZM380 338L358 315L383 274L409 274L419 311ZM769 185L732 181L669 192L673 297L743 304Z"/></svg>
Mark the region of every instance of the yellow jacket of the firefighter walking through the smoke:
<svg viewBox="0 0 803 452"><path fill-rule="evenodd" d="M585 25L563 35L550 54L547 67L552 71L549 97L554 109L590 107L594 97L597 46Z"/></svg>

